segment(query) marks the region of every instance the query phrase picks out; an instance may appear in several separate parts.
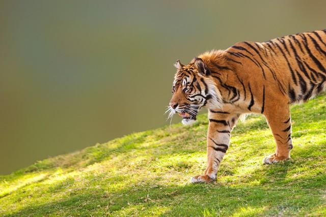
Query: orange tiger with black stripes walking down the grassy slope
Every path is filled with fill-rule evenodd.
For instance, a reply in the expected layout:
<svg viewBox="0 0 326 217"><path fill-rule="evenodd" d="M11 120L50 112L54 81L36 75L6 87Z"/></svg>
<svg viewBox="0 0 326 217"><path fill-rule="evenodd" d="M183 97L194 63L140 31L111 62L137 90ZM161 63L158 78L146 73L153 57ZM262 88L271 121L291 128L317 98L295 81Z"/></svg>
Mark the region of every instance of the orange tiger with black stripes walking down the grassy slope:
<svg viewBox="0 0 326 217"><path fill-rule="evenodd" d="M325 89L326 29L258 43L237 42L225 50L204 52L189 64L177 60L169 115L185 125L208 109L207 167L192 183L216 180L230 145L231 131L242 115L262 114L276 150L263 159L290 159L293 148L289 105L306 102Z"/></svg>

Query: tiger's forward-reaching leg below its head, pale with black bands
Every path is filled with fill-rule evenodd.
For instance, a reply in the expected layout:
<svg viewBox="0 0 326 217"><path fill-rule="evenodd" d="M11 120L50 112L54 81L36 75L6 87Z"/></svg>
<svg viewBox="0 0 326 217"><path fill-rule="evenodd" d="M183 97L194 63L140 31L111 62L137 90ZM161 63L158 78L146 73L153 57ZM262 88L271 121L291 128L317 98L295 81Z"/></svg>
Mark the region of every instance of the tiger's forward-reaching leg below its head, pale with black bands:
<svg viewBox="0 0 326 217"><path fill-rule="evenodd" d="M230 144L231 130L235 126L238 117L238 114L230 114L223 111L209 111L207 168L202 175L192 177L192 183L208 183L216 179L216 174Z"/></svg>

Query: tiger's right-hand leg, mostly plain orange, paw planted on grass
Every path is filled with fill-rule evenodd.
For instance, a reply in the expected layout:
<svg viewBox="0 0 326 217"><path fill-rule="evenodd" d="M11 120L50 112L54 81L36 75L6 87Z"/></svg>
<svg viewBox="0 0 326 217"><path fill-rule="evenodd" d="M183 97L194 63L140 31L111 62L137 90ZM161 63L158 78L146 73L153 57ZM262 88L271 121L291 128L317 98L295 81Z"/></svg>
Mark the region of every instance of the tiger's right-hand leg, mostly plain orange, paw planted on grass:
<svg viewBox="0 0 326 217"><path fill-rule="evenodd" d="M265 164L289 159L290 150L293 147L289 106L287 104L282 106L282 104L275 103L270 109L266 109L264 115L276 141L276 150L275 153L263 159Z"/></svg>

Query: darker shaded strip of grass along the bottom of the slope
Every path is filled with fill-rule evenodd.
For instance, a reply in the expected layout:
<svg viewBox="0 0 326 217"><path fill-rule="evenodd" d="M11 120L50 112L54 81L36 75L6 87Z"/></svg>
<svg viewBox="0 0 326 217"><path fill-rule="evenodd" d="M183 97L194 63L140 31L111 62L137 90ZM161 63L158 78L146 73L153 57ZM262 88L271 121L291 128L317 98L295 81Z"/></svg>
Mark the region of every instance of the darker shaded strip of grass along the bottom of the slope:
<svg viewBox="0 0 326 217"><path fill-rule="evenodd" d="M212 184L157 185L145 181L144 186L123 188L112 195L103 193L104 189L89 189L83 194L78 191L64 198L44 204L35 204L5 216L42 216L42 215L90 215L90 214L135 214L134 208L145 207L142 213L149 215L148 210L162 209L164 215L203 215L205 210L215 214L241 214L248 209L253 215L278 215L293 211L307 212L306 203L313 202L314 207L324 203L324 195L312 188L311 182L318 182L318 187L326 186L326 175L301 177L290 183L285 180L290 164L282 165L277 173L278 181L273 184L246 184L224 186L219 182ZM274 178L271 167L262 166L260 169L266 178ZM164 177L162 177L164 178ZM285 184L286 183L286 184ZM148 186L146 185L148 184ZM311 188L309 188L311 187ZM315 185L313 187L316 187ZM55 188L56 189L56 188ZM58 190L58 188L57 188ZM312 197L313 195L313 197ZM289 199L289 197L291 199ZM53 212L53 210L55 210Z"/></svg>

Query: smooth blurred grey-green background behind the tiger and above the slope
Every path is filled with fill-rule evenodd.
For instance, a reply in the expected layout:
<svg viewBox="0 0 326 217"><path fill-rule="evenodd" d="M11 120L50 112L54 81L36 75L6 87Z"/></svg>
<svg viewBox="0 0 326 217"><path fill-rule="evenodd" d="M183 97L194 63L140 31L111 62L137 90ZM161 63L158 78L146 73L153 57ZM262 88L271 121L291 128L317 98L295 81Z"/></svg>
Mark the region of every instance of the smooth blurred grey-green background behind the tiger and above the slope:
<svg viewBox="0 0 326 217"><path fill-rule="evenodd" d="M0 174L168 124L176 59L324 29L325 8L324 1L1 1Z"/></svg>

